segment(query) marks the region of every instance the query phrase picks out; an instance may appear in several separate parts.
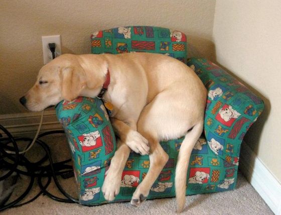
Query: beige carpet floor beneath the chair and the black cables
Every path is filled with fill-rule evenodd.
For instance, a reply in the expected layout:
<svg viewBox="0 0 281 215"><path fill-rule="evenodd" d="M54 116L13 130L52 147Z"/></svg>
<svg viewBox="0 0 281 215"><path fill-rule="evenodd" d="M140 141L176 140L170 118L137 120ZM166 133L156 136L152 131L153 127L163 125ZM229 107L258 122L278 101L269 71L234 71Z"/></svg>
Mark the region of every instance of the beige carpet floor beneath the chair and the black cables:
<svg viewBox="0 0 281 215"><path fill-rule="evenodd" d="M51 147L54 161L62 161L70 158L64 135L53 135L44 139ZM29 152L32 159L40 157L42 150L34 146ZM28 178L22 177L22 184L17 186L12 198L20 195L25 189L24 184ZM74 178L61 179L61 184L68 193L75 196ZM48 191L58 195L55 185L50 184ZM29 200L38 192L38 185L35 184L32 192L26 198ZM62 197L62 196L61 196ZM238 173L236 189L233 191L217 192L212 194L199 194L186 196L186 208L182 214L273 214L270 208L246 181L241 173ZM7 209L1 214L175 214L176 199L164 198L147 200L141 207L132 207L128 202L110 203L100 206L82 206L79 204L61 203L54 201L47 196L40 196L34 202L27 205Z"/></svg>

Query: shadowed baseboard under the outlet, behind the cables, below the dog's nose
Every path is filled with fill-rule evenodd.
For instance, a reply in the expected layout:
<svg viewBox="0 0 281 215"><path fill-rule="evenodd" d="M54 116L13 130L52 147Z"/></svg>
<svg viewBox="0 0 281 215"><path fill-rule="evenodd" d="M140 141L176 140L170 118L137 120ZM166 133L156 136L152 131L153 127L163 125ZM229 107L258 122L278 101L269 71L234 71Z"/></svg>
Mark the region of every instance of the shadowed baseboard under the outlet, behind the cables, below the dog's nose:
<svg viewBox="0 0 281 215"><path fill-rule="evenodd" d="M38 129L41 113L21 113L0 115L0 125L4 126L13 136L32 137ZM41 133L62 130L55 111L45 111Z"/></svg>

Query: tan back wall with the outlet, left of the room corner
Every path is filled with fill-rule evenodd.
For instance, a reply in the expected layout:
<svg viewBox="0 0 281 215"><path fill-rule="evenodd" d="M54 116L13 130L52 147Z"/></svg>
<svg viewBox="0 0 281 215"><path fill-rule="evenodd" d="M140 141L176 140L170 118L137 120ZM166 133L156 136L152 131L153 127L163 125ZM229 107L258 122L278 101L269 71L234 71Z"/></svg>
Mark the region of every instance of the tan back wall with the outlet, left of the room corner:
<svg viewBox="0 0 281 215"><path fill-rule="evenodd" d="M185 32L191 55L213 57L215 1L0 1L0 115L26 112L18 99L43 66L41 36L61 35L63 53L90 53L90 34L124 25Z"/></svg>

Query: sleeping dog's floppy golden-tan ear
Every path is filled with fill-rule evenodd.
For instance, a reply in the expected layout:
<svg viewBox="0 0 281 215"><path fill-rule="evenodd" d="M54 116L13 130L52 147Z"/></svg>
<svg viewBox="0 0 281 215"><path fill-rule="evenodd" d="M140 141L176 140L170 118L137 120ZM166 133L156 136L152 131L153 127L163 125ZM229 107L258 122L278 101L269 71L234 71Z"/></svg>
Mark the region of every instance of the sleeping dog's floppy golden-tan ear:
<svg viewBox="0 0 281 215"><path fill-rule="evenodd" d="M85 87L85 75L82 68L66 67L60 71L61 94L65 100L77 98Z"/></svg>

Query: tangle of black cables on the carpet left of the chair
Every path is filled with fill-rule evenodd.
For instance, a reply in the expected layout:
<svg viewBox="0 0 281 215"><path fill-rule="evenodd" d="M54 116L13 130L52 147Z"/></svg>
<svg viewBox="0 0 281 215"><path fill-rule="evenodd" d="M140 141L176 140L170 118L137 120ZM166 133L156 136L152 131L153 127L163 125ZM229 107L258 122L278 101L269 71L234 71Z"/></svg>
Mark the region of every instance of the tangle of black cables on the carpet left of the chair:
<svg viewBox="0 0 281 215"><path fill-rule="evenodd" d="M5 135L3 136L1 135L1 133L4 133ZM11 193L5 200L3 200L0 203L0 211L3 211L7 208L18 207L30 203L34 201L36 198L38 198L41 194L47 195L50 198L61 202L79 203L78 199L72 197L71 195L69 195L67 192L64 191L64 189L59 184L57 178L57 176L62 176L63 178L67 178L69 176L74 175L72 165L67 164L71 161L71 159L54 163L52 160L49 146L45 142L40 140L40 138L44 136L58 134L58 133L64 133L64 131L45 132L38 136L36 143L40 147L42 147L43 151L45 152L45 155L43 155L43 157L39 161L31 162L28 160L28 158L26 158L25 154L19 153L19 147L17 142L25 141L28 142L28 145L30 145L32 143L32 139L23 138L23 137L15 138L10 134L10 132L7 129L5 129L3 126L0 125L0 170L2 170L1 172L3 172L3 170L8 170L8 172L6 172L4 175L0 175L0 182L3 182L4 180L8 179L8 177L11 177L14 174L16 175L15 176L16 179L13 181L13 184L16 183L17 178L20 177L20 175L26 175L30 177L29 185L27 189L20 195L20 197L7 204L12 194ZM13 151L15 152L15 154L9 154L6 151ZM43 163L45 161L49 161L49 164L44 165ZM26 169L26 171L22 170L23 167ZM45 184L43 184L42 179L46 177L48 180ZM29 201L22 202L24 198L27 196L27 194L31 191L36 178L39 187L41 188L40 192L37 193ZM52 179L54 180L59 191L66 198L57 197L47 191L47 188L51 183Z"/></svg>

